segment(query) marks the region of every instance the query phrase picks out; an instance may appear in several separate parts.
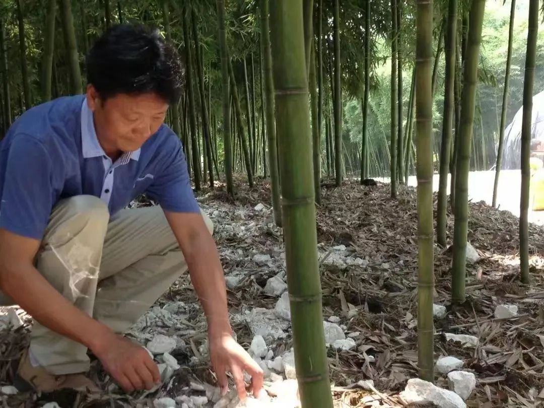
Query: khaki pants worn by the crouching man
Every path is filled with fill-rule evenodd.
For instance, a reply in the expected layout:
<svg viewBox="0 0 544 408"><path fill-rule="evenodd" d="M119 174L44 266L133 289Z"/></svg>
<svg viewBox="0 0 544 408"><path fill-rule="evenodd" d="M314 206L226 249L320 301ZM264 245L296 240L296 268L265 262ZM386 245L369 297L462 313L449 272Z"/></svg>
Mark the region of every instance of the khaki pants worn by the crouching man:
<svg viewBox="0 0 544 408"><path fill-rule="evenodd" d="M208 230L212 221L205 215ZM125 332L185 271L187 263L160 207L123 209L81 195L53 209L36 267L80 310ZM0 292L0 304L9 299ZM34 323L30 350L57 375L85 372L84 345Z"/></svg>

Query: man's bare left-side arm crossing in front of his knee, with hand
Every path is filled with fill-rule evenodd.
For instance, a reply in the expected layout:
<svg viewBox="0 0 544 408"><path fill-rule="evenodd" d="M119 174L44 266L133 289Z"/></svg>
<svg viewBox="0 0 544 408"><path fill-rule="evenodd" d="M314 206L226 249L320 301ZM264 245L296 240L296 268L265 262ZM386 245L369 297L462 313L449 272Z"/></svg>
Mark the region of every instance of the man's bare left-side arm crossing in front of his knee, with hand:
<svg viewBox="0 0 544 408"><path fill-rule="evenodd" d="M0 289L37 322L84 344L125 388L152 388L160 379L147 352L67 301L34 267L37 239L0 228ZM61 273L61 271L59 271Z"/></svg>

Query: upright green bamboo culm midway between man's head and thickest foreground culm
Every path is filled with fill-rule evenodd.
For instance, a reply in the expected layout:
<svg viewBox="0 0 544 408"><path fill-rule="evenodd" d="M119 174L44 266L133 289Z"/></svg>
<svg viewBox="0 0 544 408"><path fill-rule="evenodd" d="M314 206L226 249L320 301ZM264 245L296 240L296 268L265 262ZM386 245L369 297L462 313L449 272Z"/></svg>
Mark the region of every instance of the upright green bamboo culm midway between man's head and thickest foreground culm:
<svg viewBox="0 0 544 408"><path fill-rule="evenodd" d="M234 182L232 179L232 140L231 140L231 97L228 77L227 34L225 31L225 2L217 0L217 16L219 21L219 54L221 60L221 103L223 106L223 150L225 163L225 178L227 193L234 196Z"/></svg>

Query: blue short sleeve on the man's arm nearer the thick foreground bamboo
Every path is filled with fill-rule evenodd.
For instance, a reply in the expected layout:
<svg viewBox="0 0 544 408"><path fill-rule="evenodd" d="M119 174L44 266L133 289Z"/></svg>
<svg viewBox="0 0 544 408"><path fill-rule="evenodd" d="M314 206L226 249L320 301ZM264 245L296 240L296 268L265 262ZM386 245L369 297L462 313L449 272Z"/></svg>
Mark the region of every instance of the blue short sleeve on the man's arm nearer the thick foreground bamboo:
<svg viewBox="0 0 544 408"><path fill-rule="evenodd" d="M146 193L166 211L178 213L200 213L193 189L189 181L187 161L181 141L175 137L175 143L165 144L166 157L163 170L154 177Z"/></svg>

